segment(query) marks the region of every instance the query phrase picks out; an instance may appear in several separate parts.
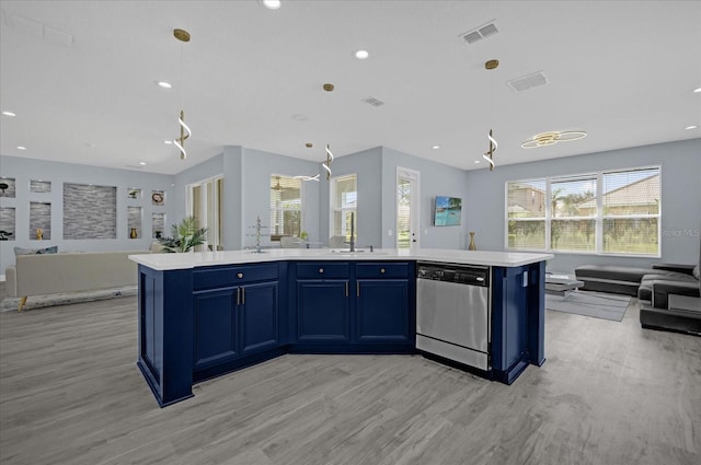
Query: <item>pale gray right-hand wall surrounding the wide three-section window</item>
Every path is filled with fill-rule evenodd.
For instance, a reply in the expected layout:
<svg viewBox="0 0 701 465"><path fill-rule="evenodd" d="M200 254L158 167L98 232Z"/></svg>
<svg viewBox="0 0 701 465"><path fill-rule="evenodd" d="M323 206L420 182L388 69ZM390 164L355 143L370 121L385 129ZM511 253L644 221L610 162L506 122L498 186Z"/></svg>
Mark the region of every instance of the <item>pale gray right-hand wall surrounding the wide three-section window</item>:
<svg viewBox="0 0 701 465"><path fill-rule="evenodd" d="M573 142L576 143L576 142ZM541 150L541 149L537 149ZM558 146L542 150L558 150ZM524 152L527 156L528 152ZM694 263L699 254L701 220L701 139L635 147L539 162L497 165L493 172L469 171L467 217L478 248L505 249L505 185L508 181L593 173L601 170L662 166L662 258ZM464 213L463 213L464 214ZM548 269L573 272L578 265L616 264L647 267L656 258L558 253Z"/></svg>

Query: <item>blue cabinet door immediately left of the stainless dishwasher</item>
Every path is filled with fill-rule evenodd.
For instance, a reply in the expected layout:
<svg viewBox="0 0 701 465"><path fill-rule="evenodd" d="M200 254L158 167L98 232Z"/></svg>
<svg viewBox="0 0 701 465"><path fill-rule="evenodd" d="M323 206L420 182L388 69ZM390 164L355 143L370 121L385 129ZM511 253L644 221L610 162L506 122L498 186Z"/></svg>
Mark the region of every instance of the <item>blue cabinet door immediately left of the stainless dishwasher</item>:
<svg viewBox="0 0 701 465"><path fill-rule="evenodd" d="M406 279L359 279L356 282L357 340L410 342Z"/></svg>

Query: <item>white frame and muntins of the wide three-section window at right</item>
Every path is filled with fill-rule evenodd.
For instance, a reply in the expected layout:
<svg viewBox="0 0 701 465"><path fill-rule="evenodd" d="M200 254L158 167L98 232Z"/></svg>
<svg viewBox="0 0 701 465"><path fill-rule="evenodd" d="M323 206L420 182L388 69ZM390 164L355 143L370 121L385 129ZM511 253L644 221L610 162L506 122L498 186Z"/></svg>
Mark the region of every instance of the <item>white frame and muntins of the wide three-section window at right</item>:
<svg viewBox="0 0 701 465"><path fill-rule="evenodd" d="M657 176L659 176L659 202L656 214L652 213L634 213L634 214L610 214L606 213L604 210L604 188L605 183L604 178L606 175L618 174L618 173L634 173L647 170L655 170L657 172ZM551 242L551 232L552 232L552 184L558 182L566 182L566 181L577 181L584 179L587 177L594 176L596 178L596 210L594 216L589 217L575 217L576 220L586 220L589 221L593 219L595 221L595 247L593 251L584 251L584 249L558 249L552 247ZM597 255L597 256L618 256L618 257L644 257L644 258L659 258L662 256L662 212L663 212L663 199L662 199L662 165L645 165L645 166L635 166L635 167L625 167L625 168L610 168L610 170L600 170L597 172L589 173L579 173L572 175L556 175L556 176L544 176L544 177L533 177L528 179L513 179L506 181L504 183L504 249L509 252L544 252L550 254L575 254L575 255ZM544 182L544 218L543 217L535 217L535 218L509 218L509 185L513 184L529 184L529 183L538 183ZM631 183L633 184L633 183ZM609 190L613 191L616 189ZM607 193L607 194L609 194ZM555 217L554 220L563 220L567 219L567 217ZM604 228L606 220L616 220L616 219L630 219L630 220L640 220L640 219L656 219L657 221L657 249L654 253L632 253L632 252L607 252L605 251L605 241L604 241ZM509 222L510 221L535 221L544 223L544 247L525 247L509 246Z"/></svg>

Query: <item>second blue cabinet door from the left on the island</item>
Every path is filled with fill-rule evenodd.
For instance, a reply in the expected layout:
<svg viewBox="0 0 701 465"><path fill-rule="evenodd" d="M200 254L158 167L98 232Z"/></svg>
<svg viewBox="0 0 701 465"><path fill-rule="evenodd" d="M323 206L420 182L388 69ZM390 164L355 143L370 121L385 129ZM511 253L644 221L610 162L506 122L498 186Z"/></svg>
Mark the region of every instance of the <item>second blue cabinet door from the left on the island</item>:
<svg viewBox="0 0 701 465"><path fill-rule="evenodd" d="M277 347L279 341L277 290L277 281L241 287L242 353Z"/></svg>

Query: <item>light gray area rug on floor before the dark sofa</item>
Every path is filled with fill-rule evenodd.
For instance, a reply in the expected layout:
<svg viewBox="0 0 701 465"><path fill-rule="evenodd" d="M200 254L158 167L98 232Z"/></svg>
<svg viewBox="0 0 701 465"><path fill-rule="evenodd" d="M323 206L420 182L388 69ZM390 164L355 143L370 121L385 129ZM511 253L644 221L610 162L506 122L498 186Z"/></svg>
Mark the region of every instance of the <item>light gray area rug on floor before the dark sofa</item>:
<svg viewBox="0 0 701 465"><path fill-rule="evenodd" d="M545 309L620 322L630 301L629 295L574 291L567 295L545 294Z"/></svg>

